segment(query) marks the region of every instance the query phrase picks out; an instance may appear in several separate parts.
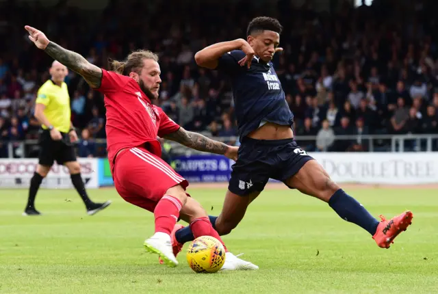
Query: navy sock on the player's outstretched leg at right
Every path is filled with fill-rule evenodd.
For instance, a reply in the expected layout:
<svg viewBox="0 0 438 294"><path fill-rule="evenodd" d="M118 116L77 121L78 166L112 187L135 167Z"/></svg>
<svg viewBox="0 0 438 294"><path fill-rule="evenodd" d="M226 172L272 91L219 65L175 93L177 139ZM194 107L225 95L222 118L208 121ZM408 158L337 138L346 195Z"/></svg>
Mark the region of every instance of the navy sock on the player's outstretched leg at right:
<svg viewBox="0 0 438 294"><path fill-rule="evenodd" d="M362 206L355 198L348 196L343 189L337 190L329 200L330 207L347 222L352 222L368 230L374 235L377 230L378 220Z"/></svg>

